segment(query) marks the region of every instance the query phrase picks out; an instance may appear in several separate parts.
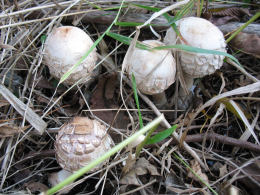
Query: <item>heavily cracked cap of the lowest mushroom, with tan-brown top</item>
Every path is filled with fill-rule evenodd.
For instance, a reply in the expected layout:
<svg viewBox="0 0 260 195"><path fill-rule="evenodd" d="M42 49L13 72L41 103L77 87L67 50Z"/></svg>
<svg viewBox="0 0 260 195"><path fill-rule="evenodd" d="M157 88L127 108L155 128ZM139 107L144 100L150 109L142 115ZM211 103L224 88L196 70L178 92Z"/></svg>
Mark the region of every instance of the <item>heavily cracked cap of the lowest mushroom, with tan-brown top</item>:
<svg viewBox="0 0 260 195"><path fill-rule="evenodd" d="M112 145L113 140L100 122L75 117L63 125L56 136L56 158L63 169L73 172L105 154ZM92 171L101 168L104 163Z"/></svg>

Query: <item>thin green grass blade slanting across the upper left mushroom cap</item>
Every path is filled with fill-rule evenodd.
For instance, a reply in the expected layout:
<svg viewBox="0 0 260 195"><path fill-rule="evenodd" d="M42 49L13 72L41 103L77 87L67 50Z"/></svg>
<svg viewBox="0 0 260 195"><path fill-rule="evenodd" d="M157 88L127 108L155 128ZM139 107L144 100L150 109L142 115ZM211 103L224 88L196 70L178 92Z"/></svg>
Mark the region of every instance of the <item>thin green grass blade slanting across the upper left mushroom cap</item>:
<svg viewBox="0 0 260 195"><path fill-rule="evenodd" d="M73 67L66 72L60 79L59 84L61 84L63 81L65 81L70 75L71 73L88 57L88 55L96 48L96 46L98 45L98 43L103 39L103 37L106 35L107 32L110 31L110 29L112 28L112 26L116 23L116 21L118 20L119 14L121 12L122 6L124 4L124 0L121 3L121 6L118 10L118 13L114 19L114 21L112 22L112 24L107 28L107 30L94 42L94 44L90 47L90 49L86 52L85 55L83 55L80 60L73 65Z"/></svg>

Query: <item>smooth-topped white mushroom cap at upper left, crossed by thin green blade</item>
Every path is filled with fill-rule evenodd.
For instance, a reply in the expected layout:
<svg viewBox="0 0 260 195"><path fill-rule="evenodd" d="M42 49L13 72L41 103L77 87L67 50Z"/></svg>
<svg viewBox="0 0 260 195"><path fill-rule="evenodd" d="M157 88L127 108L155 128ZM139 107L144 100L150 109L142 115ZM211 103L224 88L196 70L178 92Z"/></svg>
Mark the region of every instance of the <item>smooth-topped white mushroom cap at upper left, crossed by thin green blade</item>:
<svg viewBox="0 0 260 195"><path fill-rule="evenodd" d="M91 38L80 28L62 26L55 28L48 35L45 43L44 59L50 74L60 79L93 45ZM81 83L89 80L97 61L96 49L64 81L72 85L81 78Z"/></svg>

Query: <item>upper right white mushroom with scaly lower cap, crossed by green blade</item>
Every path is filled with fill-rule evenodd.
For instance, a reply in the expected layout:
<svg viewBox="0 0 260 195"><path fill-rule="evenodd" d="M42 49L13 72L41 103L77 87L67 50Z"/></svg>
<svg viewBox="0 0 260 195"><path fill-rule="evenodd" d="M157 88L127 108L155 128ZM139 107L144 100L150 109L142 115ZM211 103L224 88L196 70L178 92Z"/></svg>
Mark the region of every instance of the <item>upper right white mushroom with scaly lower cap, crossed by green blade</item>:
<svg viewBox="0 0 260 195"><path fill-rule="evenodd" d="M180 39L177 43L226 52L223 33L208 20L187 17L179 20L177 27L180 32ZM164 43L174 45L176 44L176 37L175 31L170 28L167 30ZM222 55L180 51L180 63L187 89L192 88L194 78L201 78L219 69L223 64L223 59L224 56ZM185 101L186 97L185 90L181 88L179 98Z"/></svg>

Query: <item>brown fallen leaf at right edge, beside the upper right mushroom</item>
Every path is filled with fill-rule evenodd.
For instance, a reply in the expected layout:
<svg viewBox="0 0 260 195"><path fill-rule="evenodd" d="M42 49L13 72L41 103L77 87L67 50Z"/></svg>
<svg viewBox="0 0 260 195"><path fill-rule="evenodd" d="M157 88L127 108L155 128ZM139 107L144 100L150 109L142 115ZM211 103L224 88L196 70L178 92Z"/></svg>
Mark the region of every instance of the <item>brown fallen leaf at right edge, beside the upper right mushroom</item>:
<svg viewBox="0 0 260 195"><path fill-rule="evenodd" d="M260 58L260 37L256 34L240 32L230 41L230 44L235 49Z"/></svg>

